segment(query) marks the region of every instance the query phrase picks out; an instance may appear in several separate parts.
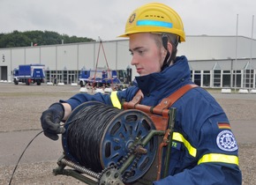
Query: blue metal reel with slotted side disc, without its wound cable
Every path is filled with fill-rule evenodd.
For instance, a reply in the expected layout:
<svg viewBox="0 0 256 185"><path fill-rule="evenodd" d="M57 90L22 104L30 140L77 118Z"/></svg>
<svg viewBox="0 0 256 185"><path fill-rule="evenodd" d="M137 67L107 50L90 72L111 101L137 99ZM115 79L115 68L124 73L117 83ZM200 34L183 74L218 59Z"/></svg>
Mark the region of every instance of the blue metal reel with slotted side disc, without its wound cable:
<svg viewBox="0 0 256 185"><path fill-rule="evenodd" d="M63 135L62 142L64 153L73 162L79 164L79 159L74 158L71 155L70 149L67 145L67 140L71 139L67 137L70 121L76 119L79 110L93 105L102 105L100 102L89 101L84 103L72 111L72 115L66 121L66 132ZM104 113L102 112L102 115ZM100 115L99 115L100 116ZM133 152L133 149L141 144L142 140L147 137L151 130L155 130L154 123L147 114L136 109L129 109L120 111L109 122L106 129L103 131L102 139L100 142L100 160L102 169L109 166L122 167L124 160L129 156L129 152ZM92 130L94 132L94 130ZM147 170L152 166L154 158L157 152L157 137L152 137L151 140L143 147L147 153L141 154L136 158L136 164L132 161L132 164L124 170L124 177L128 176L126 182L132 182L139 180Z"/></svg>

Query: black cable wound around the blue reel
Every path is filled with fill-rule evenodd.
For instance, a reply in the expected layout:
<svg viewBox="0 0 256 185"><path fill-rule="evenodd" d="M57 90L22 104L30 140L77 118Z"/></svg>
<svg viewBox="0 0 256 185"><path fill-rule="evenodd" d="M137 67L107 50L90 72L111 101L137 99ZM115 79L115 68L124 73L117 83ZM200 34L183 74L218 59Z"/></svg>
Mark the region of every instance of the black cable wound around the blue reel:
<svg viewBox="0 0 256 185"><path fill-rule="evenodd" d="M107 105L82 107L75 120L68 122L67 145L72 157L83 167L102 172L100 146L102 135L114 116L122 110Z"/></svg>

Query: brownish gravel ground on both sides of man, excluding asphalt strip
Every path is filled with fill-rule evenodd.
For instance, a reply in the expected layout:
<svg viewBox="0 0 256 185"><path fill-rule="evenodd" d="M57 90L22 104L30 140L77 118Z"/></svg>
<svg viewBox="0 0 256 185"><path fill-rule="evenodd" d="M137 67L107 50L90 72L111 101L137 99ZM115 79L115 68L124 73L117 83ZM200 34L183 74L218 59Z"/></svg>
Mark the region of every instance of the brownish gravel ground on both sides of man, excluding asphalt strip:
<svg viewBox="0 0 256 185"><path fill-rule="evenodd" d="M0 83L0 134L17 130L41 130L41 112L53 102L79 93L79 86L12 85ZM256 94L222 94L210 91L232 121L256 123ZM241 130L243 132L243 130ZM245 133L246 137L246 133ZM243 184L256 184L256 139L238 141ZM3 146L1 146L3 148ZM1 151L0 151L1 155ZM26 155L26 153L25 153ZM14 165L0 164L0 184L8 184ZM11 184L83 184L67 176L54 176L55 161L19 164Z"/></svg>

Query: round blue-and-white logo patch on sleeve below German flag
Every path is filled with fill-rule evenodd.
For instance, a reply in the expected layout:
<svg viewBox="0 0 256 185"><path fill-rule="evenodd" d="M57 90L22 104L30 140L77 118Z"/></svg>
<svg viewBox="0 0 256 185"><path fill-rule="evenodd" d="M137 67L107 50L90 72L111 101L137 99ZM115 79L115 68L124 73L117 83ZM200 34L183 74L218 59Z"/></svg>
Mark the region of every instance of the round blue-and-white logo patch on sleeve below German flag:
<svg viewBox="0 0 256 185"><path fill-rule="evenodd" d="M221 131L216 138L216 142L222 151L234 152L238 149L237 141L230 130Z"/></svg>

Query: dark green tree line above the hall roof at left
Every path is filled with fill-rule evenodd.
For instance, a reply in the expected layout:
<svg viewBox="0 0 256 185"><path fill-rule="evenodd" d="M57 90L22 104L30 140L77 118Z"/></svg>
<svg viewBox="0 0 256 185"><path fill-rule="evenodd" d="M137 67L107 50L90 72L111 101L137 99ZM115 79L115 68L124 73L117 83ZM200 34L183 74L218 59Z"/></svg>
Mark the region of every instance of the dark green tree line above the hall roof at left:
<svg viewBox="0 0 256 185"><path fill-rule="evenodd" d="M87 37L69 36L51 31L26 31L17 30L12 33L0 33L0 48L28 47L33 43L34 46L53 45L64 43L76 43L94 41Z"/></svg>

